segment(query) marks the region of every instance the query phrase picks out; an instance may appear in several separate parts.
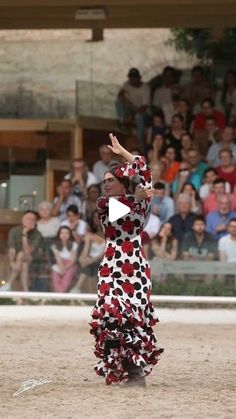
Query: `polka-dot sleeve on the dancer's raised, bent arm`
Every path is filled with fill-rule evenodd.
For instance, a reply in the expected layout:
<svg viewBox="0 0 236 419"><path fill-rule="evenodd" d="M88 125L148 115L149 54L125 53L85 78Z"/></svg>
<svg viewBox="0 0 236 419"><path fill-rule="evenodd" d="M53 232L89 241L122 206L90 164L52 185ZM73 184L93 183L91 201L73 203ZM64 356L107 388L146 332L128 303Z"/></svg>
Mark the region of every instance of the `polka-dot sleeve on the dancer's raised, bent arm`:
<svg viewBox="0 0 236 419"><path fill-rule="evenodd" d="M143 156L135 156L133 163L126 163L117 169L117 175L120 177L133 177L139 175L141 187L148 189L152 187L152 172L147 166Z"/></svg>

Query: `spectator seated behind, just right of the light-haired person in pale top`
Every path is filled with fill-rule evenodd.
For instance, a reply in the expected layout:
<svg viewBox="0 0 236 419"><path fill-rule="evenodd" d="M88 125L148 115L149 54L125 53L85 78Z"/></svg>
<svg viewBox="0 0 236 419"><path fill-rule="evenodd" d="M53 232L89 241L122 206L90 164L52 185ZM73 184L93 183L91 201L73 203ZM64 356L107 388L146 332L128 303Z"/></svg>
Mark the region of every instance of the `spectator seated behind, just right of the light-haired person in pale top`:
<svg viewBox="0 0 236 419"><path fill-rule="evenodd" d="M66 219L66 210L70 205L76 205L81 210L81 200L73 194L72 183L69 179L63 179L57 187L58 196L53 200L52 215L59 217L60 221Z"/></svg>

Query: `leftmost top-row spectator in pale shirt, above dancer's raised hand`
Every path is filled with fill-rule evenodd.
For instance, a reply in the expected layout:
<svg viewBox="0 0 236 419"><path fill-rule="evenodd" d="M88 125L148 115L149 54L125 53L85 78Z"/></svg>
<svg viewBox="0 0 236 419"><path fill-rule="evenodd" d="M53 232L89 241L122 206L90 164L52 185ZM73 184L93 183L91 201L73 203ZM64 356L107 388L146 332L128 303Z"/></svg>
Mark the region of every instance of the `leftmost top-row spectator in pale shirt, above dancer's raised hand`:
<svg viewBox="0 0 236 419"><path fill-rule="evenodd" d="M145 114L150 105L150 88L142 81L137 68L131 68L127 76L128 80L118 93L117 115L122 124L136 124L139 147L144 148Z"/></svg>

